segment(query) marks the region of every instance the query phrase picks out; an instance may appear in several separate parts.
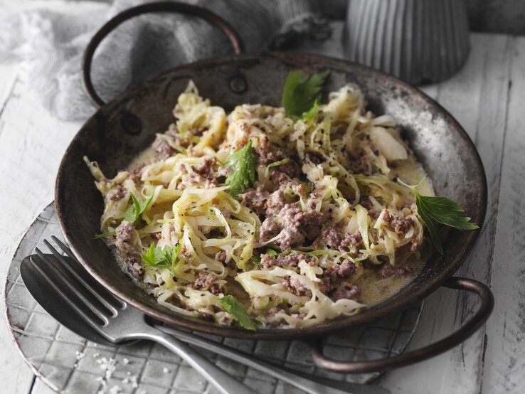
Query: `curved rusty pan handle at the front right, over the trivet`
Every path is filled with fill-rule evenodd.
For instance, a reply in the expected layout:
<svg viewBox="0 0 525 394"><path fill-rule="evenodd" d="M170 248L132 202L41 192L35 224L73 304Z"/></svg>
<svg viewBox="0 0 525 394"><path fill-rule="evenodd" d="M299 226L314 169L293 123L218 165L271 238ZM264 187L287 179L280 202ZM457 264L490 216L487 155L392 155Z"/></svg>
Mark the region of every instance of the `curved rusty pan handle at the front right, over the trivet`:
<svg viewBox="0 0 525 394"><path fill-rule="evenodd" d="M418 361L426 360L427 358L437 356L454 346L465 341L469 336L474 334L482 324L489 318L494 309L494 296L486 284L478 282L474 279L467 279L462 277L451 277L444 284L445 287L450 289L467 290L467 292L473 292L481 299L481 305L479 310L472 316L472 319L467 321L460 329L455 333L450 334L444 339L435 342L434 344L418 348L407 353L401 353L397 356L389 358L381 358L378 360L368 361L334 361L330 358L326 358L322 354L320 348L320 340L318 339L310 347L310 355L314 363L322 368L327 368L331 371L341 373L368 373L375 371L386 371L391 368L399 368L402 366L408 366Z"/></svg>

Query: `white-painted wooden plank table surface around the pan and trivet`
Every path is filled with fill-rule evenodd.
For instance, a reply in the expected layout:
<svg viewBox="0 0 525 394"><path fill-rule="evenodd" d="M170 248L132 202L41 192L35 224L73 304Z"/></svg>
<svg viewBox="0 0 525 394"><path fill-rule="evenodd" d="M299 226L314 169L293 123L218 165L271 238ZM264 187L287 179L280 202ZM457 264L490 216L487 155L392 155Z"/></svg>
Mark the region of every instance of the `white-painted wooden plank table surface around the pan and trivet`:
<svg viewBox="0 0 525 394"><path fill-rule="evenodd" d="M0 16L36 5L65 3L0 0ZM457 275L489 283L496 307L487 325L461 346L383 376L381 385L393 393L525 393L525 37L473 34L471 41L465 67L423 90L459 120L482 156L489 183L487 220L472 257ZM337 53L337 44L332 45L317 51ZM80 124L51 117L31 97L18 65L0 65L2 291L16 246L53 201L60 158ZM410 348L446 336L476 307L474 297L437 290L425 302ZM0 392L51 392L18 356L3 318Z"/></svg>

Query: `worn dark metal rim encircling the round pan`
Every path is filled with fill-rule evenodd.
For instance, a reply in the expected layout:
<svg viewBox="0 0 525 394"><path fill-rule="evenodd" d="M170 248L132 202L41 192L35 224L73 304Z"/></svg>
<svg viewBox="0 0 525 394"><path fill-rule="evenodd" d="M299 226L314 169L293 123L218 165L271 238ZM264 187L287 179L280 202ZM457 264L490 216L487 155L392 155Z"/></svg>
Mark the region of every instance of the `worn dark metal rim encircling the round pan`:
<svg viewBox="0 0 525 394"><path fill-rule="evenodd" d="M410 95L417 95L426 104L428 104L430 107L433 107L433 109L435 109L436 112L438 112L440 115L442 115L442 117L446 119L446 121L450 124L450 128L454 129L457 138L461 138L467 143L467 146L469 147L468 154L471 155L472 159L474 159L474 162L476 164L476 169L472 170L473 173L476 172L480 185L478 198L481 201L481 204L479 207L477 207L477 212L472 214L472 219L479 223L480 229L475 232L461 233L460 237L458 237L460 238L462 243L462 249L460 250L460 252L457 255L450 256L450 262L446 265L445 269L435 272L435 275L433 275L432 277L432 281L429 282L426 286L423 285L423 287L418 288L416 291L406 294L407 297L401 305L396 303L382 302L381 304L378 304L375 307L366 309L366 311L361 312L360 314L356 314L354 316L349 316L346 318L334 319L331 321L327 321L323 324L305 327L302 329L260 329L257 331L247 331L233 326L209 324L206 321L198 321L195 319L185 318L184 316L176 314L174 312L163 313L160 309L155 309L146 302L142 302L139 299L129 296L126 292L123 292L122 289L118 289L117 287L113 286L110 282L107 282L105 277L103 277L102 273L94 269L90 265L88 258L83 256L83 253L80 252L75 243L72 242L72 238L70 237L71 229L68 228L64 217L64 211L62 208L64 204L67 203L67 201L64 201L62 193L64 188L63 174L65 173L65 166L67 164L68 154L70 154L73 147L75 147L75 143L78 142L80 135L83 134L83 130L85 129L85 127L87 127L88 124L90 124L90 122L92 122L94 119L96 119L102 114L102 110L104 110L105 107L115 105L117 102L122 101L124 97L129 97L129 95L132 95L136 90L141 89L147 82L163 78L166 75L174 73L175 71L181 73L184 72L184 70L186 69L194 70L201 68L209 68L211 65L216 66L218 64L232 63L235 61L255 61L260 60L261 58L275 58L276 60L279 60L287 65L297 64L298 66L302 65L303 68L307 66L314 67L318 64L322 64L322 66L325 68L341 70L342 72L348 72L349 69L355 69L361 70L362 72L368 73L370 75L376 75L376 77L379 78L386 78L386 80L390 80L399 87L402 87L403 90L407 90ZM457 271L457 269L463 264L463 262L465 262L468 255L470 255L470 252L472 252L472 249L474 248L474 245L477 239L479 238L480 233L482 232L482 225L484 223L484 218L487 212L487 190L487 179L484 172L484 167L481 158L479 157L479 152L475 148L472 139L470 139L467 132L465 132L465 129L463 129L459 122L457 122L457 120L454 117L452 117L452 115L450 115L450 113L447 112L445 108L443 108L439 103L435 102L424 92L418 90L416 87L408 85L407 83L401 80L398 80L397 78L392 77L391 75L347 60L330 58L324 55L267 52L257 54L226 55L221 57L209 58L206 60L198 60L188 65L182 65L177 68L172 68L170 70L164 71L163 73L160 73L159 75L155 75L152 78L148 78L144 82L141 82L128 90L125 90L124 92L117 95L117 97L107 102L107 104L105 104L103 107L97 110L85 122L85 124L83 124L83 127L79 129L75 137L73 137L72 141L70 142L68 149L66 149L63 159L60 161L58 175L55 183L55 211L57 213L58 223L60 225L60 230L64 235L65 241L68 243L73 254L75 255L75 257L78 258L83 267L85 267L85 269L88 270L88 272L90 272L90 275L95 277L97 282L100 282L103 286L109 289L110 292L117 295L117 297L122 298L125 302L128 302L134 307L141 309L142 312L144 312L145 314L149 316L154 316L155 318L160 319L161 321L164 321L168 324L173 324L175 326L181 326L186 329L194 329L196 331L201 331L208 334L216 334L220 336L228 336L242 339L297 339L299 337L304 338L307 336L325 335L334 331L340 331L342 329L347 329L350 327L354 328L358 326L364 326L384 316L391 315L395 312L401 312L401 310L403 310L409 304L415 304L416 302L420 302L429 294L434 292L435 289L437 289L437 287L440 287L440 285L443 284L443 282L445 282L446 279L451 277L454 274L454 272ZM447 250L447 244L448 243L445 244L445 253ZM434 254L433 257L430 257L429 261L442 258L444 257ZM416 277L413 280L413 282L415 282L417 279L418 277ZM410 284L408 286L410 286ZM405 287L405 289L407 287ZM401 290L401 292L403 292L403 289ZM396 295L394 295L393 297L396 297ZM390 299L392 299L393 297L391 297ZM381 313L378 314L378 312Z"/></svg>

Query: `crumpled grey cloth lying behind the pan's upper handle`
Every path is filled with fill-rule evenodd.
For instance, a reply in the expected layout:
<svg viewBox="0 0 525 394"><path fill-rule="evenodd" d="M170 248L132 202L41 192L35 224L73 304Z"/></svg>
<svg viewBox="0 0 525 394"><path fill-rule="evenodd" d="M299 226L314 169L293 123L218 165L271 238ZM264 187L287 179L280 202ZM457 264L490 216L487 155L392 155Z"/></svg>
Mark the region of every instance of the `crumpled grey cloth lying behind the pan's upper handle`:
<svg viewBox="0 0 525 394"><path fill-rule="evenodd" d="M61 119L85 119L95 110L80 72L91 36L112 16L151 1L115 0L87 14L28 11L0 20L0 62L20 61L44 106ZM240 34L247 52L285 48L304 36L325 38L317 0L186 0L206 7ZM92 79L104 100L162 70L230 53L228 39L206 21L179 14L133 18L102 42Z"/></svg>

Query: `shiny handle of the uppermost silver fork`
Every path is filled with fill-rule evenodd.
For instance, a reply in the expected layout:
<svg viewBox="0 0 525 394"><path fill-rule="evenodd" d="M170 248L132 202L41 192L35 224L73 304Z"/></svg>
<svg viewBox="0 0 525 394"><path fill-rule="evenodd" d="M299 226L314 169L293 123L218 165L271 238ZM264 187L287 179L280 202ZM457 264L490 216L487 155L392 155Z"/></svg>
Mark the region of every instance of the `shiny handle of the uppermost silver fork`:
<svg viewBox="0 0 525 394"><path fill-rule="evenodd" d="M137 339L149 339L155 341L166 348L169 348L177 356L189 363L198 373L200 373L209 383L213 384L222 394L258 394L230 374L218 368L214 363L201 356L191 346L173 336L154 329L153 327L146 333L141 333Z"/></svg>

